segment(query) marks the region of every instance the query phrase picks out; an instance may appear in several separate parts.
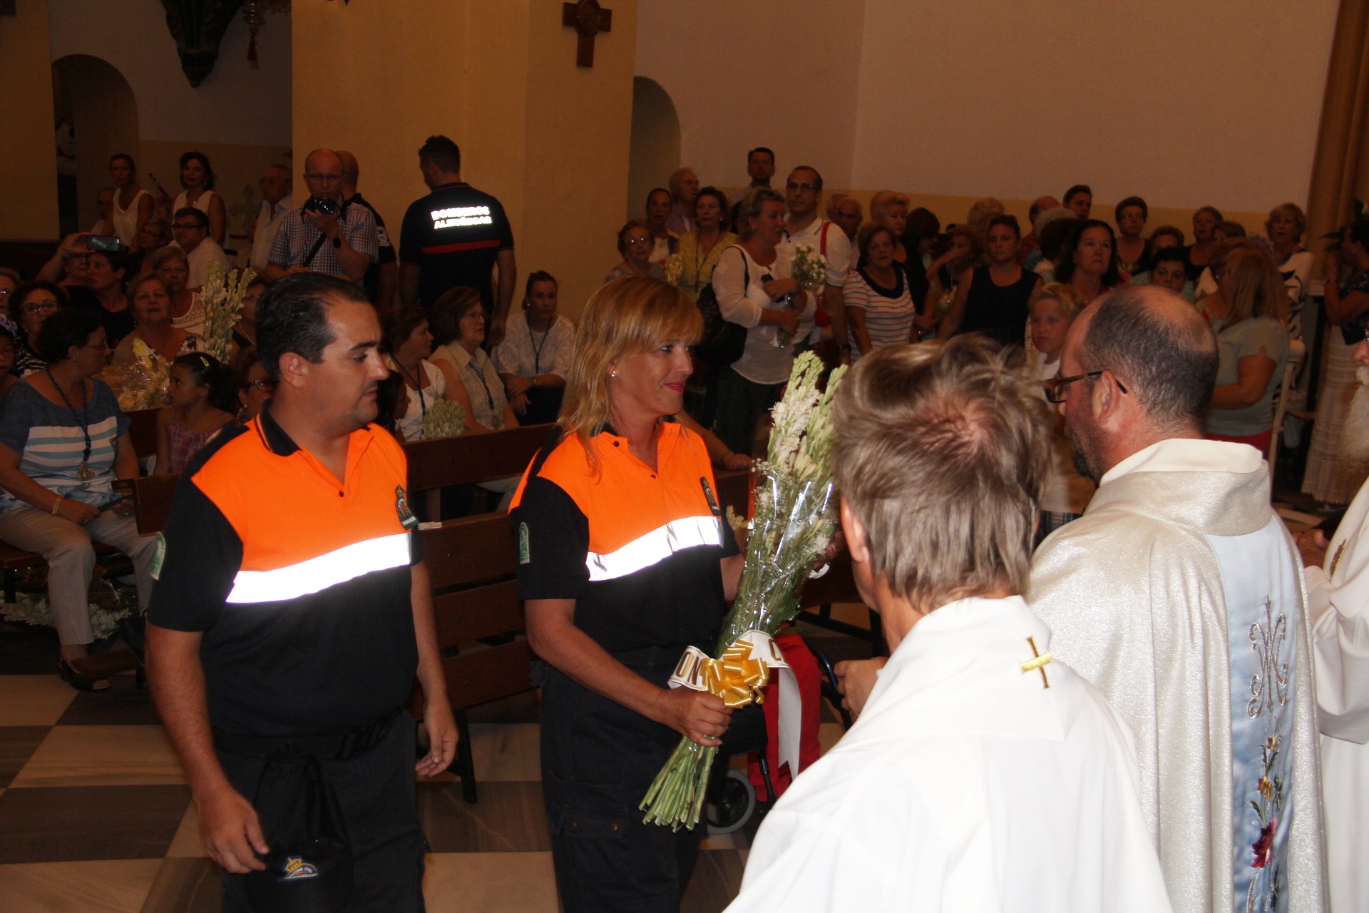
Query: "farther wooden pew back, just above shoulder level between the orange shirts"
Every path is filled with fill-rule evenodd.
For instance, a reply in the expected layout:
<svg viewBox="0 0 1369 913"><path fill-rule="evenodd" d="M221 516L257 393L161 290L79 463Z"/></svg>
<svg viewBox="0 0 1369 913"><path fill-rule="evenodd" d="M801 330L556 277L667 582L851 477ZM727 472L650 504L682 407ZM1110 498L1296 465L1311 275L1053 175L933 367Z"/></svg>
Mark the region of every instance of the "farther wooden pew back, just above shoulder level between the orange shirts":
<svg viewBox="0 0 1369 913"><path fill-rule="evenodd" d="M422 493L428 519L438 520L444 487L523 475L527 464L546 443L553 427L530 424L489 434L463 434L456 438L405 443L404 454L409 461L409 500Z"/></svg>

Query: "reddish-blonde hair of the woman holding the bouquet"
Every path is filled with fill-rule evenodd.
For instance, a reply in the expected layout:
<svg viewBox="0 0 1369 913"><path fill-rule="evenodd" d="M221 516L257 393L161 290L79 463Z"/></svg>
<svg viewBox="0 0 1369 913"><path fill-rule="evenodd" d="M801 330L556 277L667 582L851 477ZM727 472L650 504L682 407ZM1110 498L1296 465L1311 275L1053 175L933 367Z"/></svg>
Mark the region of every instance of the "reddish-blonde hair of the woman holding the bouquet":
<svg viewBox="0 0 1369 913"><path fill-rule="evenodd" d="M575 355L565 376L560 424L578 434L593 461L590 438L613 409L609 374L628 356L652 352L671 339L693 345L704 318L684 293L660 279L613 279L590 296L575 331Z"/></svg>

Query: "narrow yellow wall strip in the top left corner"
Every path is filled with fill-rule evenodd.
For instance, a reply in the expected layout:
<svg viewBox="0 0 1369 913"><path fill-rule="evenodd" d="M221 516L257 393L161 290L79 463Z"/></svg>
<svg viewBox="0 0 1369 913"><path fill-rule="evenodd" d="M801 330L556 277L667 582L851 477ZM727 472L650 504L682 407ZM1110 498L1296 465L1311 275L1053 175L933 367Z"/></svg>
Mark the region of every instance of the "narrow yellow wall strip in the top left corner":
<svg viewBox="0 0 1369 913"><path fill-rule="evenodd" d="M57 237L57 159L52 123L48 3L19 0L0 16L0 238Z"/></svg>

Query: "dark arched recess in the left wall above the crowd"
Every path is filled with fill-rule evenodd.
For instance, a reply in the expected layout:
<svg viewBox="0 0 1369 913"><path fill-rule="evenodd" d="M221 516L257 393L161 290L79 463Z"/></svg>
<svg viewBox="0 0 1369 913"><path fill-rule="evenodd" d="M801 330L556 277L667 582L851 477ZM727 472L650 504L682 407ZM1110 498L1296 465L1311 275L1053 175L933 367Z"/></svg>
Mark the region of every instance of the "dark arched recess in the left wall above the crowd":
<svg viewBox="0 0 1369 913"><path fill-rule="evenodd" d="M88 230L99 219L96 196L110 183L110 156L127 152L140 159L138 103L118 67L101 57L70 53L55 60L52 70L70 93L77 222L81 230ZM146 183L145 178L140 183Z"/></svg>

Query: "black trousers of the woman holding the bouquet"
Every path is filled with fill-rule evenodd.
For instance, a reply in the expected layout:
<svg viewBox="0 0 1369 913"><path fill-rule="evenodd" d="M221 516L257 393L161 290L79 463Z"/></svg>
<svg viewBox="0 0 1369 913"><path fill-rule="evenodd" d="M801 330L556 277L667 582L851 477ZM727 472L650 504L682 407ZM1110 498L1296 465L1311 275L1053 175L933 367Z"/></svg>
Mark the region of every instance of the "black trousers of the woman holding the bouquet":
<svg viewBox="0 0 1369 913"><path fill-rule="evenodd" d="M623 664L665 687L683 652L682 646L643 650ZM550 667L542 675L542 794L565 913L676 913L708 828L645 824L638 805L679 743L679 732ZM727 765L724 751L732 745L752 750L757 746L742 743L764 739L760 710L732 715L715 772Z"/></svg>

